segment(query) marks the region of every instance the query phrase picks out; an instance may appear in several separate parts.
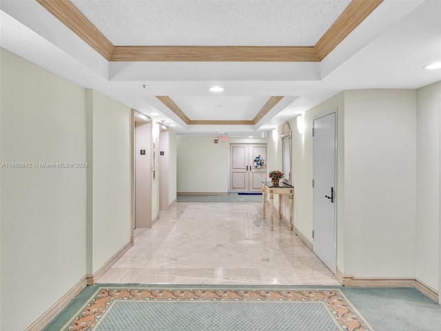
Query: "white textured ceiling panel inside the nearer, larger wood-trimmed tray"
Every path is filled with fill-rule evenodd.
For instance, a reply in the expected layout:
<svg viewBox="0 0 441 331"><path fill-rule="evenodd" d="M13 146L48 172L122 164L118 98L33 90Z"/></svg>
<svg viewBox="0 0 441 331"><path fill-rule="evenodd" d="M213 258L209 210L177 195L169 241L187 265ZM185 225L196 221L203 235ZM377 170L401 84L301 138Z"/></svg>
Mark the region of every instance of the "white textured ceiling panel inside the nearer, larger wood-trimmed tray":
<svg viewBox="0 0 441 331"><path fill-rule="evenodd" d="M314 46L351 0L70 0L114 46Z"/></svg>

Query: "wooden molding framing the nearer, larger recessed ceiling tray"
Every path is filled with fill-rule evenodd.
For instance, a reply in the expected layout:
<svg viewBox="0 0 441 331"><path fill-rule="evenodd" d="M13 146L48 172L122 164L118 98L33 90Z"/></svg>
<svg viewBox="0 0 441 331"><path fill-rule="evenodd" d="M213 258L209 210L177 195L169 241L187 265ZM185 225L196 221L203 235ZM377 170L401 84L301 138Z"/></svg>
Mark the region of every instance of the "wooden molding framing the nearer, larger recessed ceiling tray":
<svg viewBox="0 0 441 331"><path fill-rule="evenodd" d="M68 0L37 0L107 61L274 61L325 59L383 0L353 0L315 46L114 46Z"/></svg>

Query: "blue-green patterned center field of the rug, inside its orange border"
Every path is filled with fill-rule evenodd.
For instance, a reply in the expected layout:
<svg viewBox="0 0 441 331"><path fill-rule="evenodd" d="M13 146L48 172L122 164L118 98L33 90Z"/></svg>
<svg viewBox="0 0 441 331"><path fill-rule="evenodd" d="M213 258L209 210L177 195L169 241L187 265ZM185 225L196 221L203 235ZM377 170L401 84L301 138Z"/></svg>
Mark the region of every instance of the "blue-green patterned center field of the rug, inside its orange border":
<svg viewBox="0 0 441 331"><path fill-rule="evenodd" d="M323 302L118 300L107 312L96 330L341 330Z"/></svg>

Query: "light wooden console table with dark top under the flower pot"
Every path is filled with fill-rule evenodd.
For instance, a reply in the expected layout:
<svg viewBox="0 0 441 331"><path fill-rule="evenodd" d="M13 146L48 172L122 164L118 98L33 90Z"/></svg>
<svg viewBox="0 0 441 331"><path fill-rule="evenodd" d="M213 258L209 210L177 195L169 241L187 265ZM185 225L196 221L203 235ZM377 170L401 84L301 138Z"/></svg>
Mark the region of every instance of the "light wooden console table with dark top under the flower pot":
<svg viewBox="0 0 441 331"><path fill-rule="evenodd" d="M289 197L289 230L293 229L292 212L294 209L294 187L286 183L280 182L278 186L273 186L271 181L262 182L262 199L263 199L263 217L265 218L265 199L269 193L269 221L271 230L273 230L273 214L274 214L274 194L279 194L278 198L278 217L282 218L282 199L281 195L288 194Z"/></svg>

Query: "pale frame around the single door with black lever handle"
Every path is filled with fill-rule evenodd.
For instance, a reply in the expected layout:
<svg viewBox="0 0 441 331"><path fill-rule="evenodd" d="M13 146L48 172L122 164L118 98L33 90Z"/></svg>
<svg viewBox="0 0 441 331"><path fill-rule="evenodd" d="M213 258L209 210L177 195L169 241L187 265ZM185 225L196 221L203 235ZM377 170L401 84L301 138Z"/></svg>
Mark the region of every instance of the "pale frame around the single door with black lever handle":
<svg viewBox="0 0 441 331"><path fill-rule="evenodd" d="M312 129L314 130L314 121L317 119L321 119L322 117L326 117L329 114L335 113L335 123L334 123L334 130L335 130L335 137L334 137L334 254L336 257L336 270L331 270L334 274L336 274L338 270L338 108L331 108L325 112L321 112L320 114L316 114L312 118ZM314 136L312 137L312 178L314 181ZM313 186L314 190L314 186ZM312 208L312 228L313 228L313 234L314 234L314 205L316 203L314 198L314 191L313 191L313 208ZM313 235L313 252L314 252L314 235Z"/></svg>

